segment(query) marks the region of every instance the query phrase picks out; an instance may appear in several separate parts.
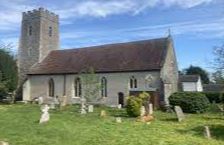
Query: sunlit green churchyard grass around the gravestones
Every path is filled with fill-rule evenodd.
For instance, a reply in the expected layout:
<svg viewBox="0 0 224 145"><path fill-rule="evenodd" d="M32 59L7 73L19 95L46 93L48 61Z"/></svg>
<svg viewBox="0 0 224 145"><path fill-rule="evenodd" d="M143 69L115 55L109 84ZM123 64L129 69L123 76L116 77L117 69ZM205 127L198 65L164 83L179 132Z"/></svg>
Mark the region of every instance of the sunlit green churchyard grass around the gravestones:
<svg viewBox="0 0 224 145"><path fill-rule="evenodd" d="M50 111L50 121L38 124L37 105L0 105L0 140L10 145L223 145L224 115L188 114L177 122L175 114L155 111L155 120L147 125L126 116L125 110L94 108L81 115L78 106ZM100 118L102 109L107 117ZM122 117L116 123L115 117ZM205 139L203 127L211 129Z"/></svg>

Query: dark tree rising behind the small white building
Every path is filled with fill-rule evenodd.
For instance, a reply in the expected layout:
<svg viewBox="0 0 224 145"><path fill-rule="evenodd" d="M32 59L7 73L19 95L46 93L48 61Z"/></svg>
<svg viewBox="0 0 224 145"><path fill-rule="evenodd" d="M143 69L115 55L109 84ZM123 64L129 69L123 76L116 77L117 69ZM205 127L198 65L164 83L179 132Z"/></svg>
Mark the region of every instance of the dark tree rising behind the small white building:
<svg viewBox="0 0 224 145"><path fill-rule="evenodd" d="M185 75L200 75L201 80L204 84L209 83L208 73L199 66L191 65L189 68L184 69Z"/></svg>

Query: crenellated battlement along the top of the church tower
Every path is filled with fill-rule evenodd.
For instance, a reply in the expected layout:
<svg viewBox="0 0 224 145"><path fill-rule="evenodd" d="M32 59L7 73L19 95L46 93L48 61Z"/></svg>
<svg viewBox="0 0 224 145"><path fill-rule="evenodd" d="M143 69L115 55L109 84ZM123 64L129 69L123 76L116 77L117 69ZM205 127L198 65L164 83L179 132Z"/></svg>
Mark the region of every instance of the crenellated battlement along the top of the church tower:
<svg viewBox="0 0 224 145"><path fill-rule="evenodd" d="M29 20L30 18L35 17L45 17L55 22L58 22L59 20L59 15L41 7L39 9L34 9L32 11L23 12L23 20Z"/></svg>

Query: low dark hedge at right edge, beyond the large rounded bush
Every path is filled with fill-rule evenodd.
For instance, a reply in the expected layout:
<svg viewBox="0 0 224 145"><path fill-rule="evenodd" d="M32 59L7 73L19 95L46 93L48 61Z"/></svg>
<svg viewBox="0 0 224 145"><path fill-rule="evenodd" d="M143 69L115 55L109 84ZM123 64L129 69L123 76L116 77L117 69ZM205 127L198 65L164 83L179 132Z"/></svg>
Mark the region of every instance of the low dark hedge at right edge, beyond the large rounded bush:
<svg viewBox="0 0 224 145"><path fill-rule="evenodd" d="M210 103L221 103L222 102L222 96L223 93L219 92L205 92L205 96L208 98Z"/></svg>

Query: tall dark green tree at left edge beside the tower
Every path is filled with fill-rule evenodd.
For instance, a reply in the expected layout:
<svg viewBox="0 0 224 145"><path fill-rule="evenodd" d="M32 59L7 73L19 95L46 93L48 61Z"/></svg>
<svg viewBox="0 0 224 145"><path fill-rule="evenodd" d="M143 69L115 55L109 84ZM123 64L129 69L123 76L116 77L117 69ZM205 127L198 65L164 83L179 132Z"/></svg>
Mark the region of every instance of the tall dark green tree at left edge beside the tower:
<svg viewBox="0 0 224 145"><path fill-rule="evenodd" d="M10 48L10 45L0 45L0 86L2 90L13 92L17 88L18 72Z"/></svg>

